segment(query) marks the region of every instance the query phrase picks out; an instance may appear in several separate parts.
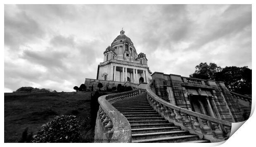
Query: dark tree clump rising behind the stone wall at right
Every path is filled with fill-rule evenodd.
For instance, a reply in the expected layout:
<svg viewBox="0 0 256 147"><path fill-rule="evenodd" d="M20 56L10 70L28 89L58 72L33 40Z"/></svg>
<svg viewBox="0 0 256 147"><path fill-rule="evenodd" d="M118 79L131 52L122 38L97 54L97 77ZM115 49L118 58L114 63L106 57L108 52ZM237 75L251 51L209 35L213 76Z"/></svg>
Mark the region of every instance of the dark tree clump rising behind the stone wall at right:
<svg viewBox="0 0 256 147"><path fill-rule="evenodd" d="M239 94L251 94L252 70L248 67L218 67L215 63L200 63L191 78L225 82L226 87Z"/></svg>

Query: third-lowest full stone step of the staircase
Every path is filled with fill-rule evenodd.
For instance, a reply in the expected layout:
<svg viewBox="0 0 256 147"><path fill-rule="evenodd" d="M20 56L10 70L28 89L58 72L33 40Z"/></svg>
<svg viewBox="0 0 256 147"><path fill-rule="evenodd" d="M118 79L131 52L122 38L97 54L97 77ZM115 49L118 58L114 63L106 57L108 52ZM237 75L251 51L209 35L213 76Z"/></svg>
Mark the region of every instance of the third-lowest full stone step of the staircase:
<svg viewBox="0 0 256 147"><path fill-rule="evenodd" d="M180 131L180 127L179 126L170 126L170 127L159 127L159 128L132 129L132 134L168 132L168 131Z"/></svg>

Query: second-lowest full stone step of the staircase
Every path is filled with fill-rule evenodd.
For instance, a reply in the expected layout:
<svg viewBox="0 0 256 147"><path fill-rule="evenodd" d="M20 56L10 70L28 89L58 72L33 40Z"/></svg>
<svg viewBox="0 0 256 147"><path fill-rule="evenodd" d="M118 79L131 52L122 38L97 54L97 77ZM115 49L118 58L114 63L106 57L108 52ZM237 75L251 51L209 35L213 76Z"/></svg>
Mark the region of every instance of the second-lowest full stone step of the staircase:
<svg viewBox="0 0 256 147"><path fill-rule="evenodd" d="M188 135L189 131L168 131L168 132L154 132L154 133L140 133L132 134L132 140L151 139L151 138L165 138L173 136Z"/></svg>

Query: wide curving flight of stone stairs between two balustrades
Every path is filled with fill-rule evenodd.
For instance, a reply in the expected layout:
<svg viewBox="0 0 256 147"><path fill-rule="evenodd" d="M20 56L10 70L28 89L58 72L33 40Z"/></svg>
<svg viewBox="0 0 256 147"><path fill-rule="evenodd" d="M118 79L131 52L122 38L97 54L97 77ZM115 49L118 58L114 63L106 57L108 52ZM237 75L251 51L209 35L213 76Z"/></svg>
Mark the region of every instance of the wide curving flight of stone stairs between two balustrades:
<svg viewBox="0 0 256 147"><path fill-rule="evenodd" d="M146 94L144 92L112 104L128 119L132 142L210 142L169 123L149 105Z"/></svg>

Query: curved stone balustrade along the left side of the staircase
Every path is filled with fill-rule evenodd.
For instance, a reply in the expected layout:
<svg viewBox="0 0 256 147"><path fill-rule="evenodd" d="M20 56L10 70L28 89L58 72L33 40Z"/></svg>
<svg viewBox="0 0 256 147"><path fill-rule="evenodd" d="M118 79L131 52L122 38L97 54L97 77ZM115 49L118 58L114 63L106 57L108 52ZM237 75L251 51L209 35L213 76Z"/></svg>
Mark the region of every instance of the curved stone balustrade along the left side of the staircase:
<svg viewBox="0 0 256 147"><path fill-rule="evenodd" d="M97 126L97 128L102 128L103 131L100 132L100 135L95 139L103 139L103 142L131 142L130 123L126 117L111 104L127 96L135 96L139 93L139 90L132 90L118 94L104 95L98 98L100 106L97 118L100 120L96 120L96 125L97 121L100 121L98 123L100 126ZM98 129L96 131L98 131Z"/></svg>

